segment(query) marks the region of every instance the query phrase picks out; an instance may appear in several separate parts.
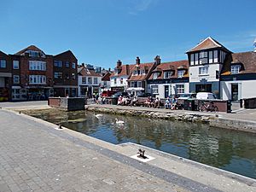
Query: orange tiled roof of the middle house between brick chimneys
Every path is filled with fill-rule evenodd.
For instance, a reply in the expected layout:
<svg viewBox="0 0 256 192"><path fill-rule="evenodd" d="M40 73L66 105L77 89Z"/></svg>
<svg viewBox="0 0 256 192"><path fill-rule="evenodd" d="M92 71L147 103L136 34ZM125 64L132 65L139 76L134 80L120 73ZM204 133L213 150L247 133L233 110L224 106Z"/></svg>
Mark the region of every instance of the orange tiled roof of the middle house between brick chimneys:
<svg viewBox="0 0 256 192"><path fill-rule="evenodd" d="M132 72L139 67L140 69L148 70L147 74L140 74L140 75L132 75ZM133 64L131 66L131 76L129 77L128 81L143 81L148 78L149 73L152 70L152 67L154 67L154 62L148 62L148 63L140 63L139 65Z"/></svg>

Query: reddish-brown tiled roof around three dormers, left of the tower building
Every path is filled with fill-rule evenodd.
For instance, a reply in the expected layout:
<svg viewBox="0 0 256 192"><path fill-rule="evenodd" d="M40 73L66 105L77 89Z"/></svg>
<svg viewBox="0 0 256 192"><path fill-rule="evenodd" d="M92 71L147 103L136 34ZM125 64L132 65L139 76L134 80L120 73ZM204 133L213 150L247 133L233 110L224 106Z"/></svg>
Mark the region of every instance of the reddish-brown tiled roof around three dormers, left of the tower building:
<svg viewBox="0 0 256 192"><path fill-rule="evenodd" d="M189 77L188 68L189 68L189 61L172 61L172 62L163 62L159 66L157 66L152 73L150 74L148 79L153 79L153 73L160 73L160 76L157 79L164 79L164 72L165 71L173 71L171 79L177 78L177 69L185 69L186 72L184 73L183 77Z"/></svg>

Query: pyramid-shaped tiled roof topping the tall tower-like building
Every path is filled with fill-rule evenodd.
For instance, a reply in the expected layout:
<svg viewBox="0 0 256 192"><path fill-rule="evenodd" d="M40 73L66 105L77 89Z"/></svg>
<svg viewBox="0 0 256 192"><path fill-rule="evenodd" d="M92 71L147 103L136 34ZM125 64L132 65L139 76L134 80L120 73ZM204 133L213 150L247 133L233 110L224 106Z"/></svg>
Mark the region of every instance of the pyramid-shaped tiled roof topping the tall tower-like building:
<svg viewBox="0 0 256 192"><path fill-rule="evenodd" d="M224 47L224 45L219 44L218 41L216 41L215 39L208 37L208 38L204 39L203 41L201 41L200 44L195 45L194 48L189 49L189 51L187 51L186 53L200 51L200 50L204 50L204 49L214 49L214 48L221 48L227 52L230 52L230 50L226 49Z"/></svg>

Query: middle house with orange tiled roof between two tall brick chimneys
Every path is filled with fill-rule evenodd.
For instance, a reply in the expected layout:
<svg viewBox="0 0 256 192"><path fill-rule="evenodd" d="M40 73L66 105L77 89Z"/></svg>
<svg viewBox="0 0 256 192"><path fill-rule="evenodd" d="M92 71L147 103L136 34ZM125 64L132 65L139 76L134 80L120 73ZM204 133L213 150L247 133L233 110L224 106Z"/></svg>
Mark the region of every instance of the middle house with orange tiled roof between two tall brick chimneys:
<svg viewBox="0 0 256 192"><path fill-rule="evenodd" d="M133 96L143 96L147 91L147 79L154 69L160 63L160 56L154 58L154 62L141 63L137 56L136 64L131 65L131 75L128 81L127 91Z"/></svg>

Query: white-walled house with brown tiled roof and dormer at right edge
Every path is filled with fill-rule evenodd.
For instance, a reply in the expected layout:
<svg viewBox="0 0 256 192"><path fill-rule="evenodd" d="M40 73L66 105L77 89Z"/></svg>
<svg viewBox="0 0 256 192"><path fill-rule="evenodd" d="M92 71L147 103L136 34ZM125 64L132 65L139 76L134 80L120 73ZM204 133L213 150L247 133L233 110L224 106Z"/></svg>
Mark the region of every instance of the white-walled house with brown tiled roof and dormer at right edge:
<svg viewBox="0 0 256 192"><path fill-rule="evenodd" d="M255 97L256 51L227 55L220 80L220 96L224 100Z"/></svg>

